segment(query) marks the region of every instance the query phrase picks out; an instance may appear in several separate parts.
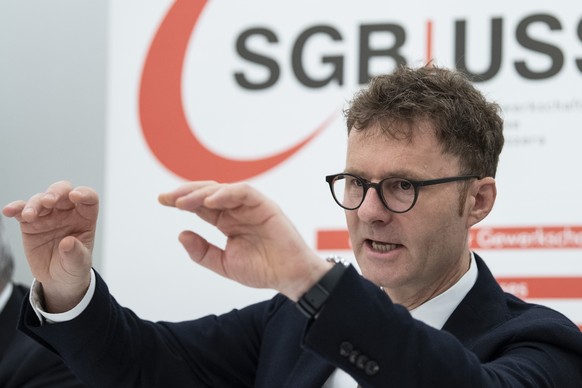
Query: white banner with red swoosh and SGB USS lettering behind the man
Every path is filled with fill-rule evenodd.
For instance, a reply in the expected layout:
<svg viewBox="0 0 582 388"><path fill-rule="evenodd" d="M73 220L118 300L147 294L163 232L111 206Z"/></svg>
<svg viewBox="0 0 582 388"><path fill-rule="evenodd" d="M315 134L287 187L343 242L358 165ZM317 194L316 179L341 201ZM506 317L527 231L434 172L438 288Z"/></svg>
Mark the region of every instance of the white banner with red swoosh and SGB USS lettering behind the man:
<svg viewBox="0 0 582 388"><path fill-rule="evenodd" d="M498 200L472 249L506 290L582 325L582 14L571 2L129 0L110 9L103 272L122 304L184 320L273 295L190 261L180 231L224 237L157 203L189 180L246 181L322 256L353 261L324 181L344 168L342 109L370 76L433 61L470 74L503 108Z"/></svg>

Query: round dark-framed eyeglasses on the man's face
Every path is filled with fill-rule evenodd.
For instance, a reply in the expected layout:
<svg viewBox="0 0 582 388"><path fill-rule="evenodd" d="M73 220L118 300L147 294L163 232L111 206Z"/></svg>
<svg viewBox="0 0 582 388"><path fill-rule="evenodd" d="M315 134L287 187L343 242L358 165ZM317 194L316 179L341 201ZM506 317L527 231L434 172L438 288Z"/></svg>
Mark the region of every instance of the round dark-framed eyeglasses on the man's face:
<svg viewBox="0 0 582 388"><path fill-rule="evenodd" d="M344 209L355 210L359 208L364 202L368 189L373 187L376 189L376 193L386 209L394 213L405 213L412 209L418 199L418 191L421 187L469 179L481 178L478 175L461 175L426 181L413 181L391 177L374 183L357 175L347 173L325 177L325 180L329 183L333 199Z"/></svg>

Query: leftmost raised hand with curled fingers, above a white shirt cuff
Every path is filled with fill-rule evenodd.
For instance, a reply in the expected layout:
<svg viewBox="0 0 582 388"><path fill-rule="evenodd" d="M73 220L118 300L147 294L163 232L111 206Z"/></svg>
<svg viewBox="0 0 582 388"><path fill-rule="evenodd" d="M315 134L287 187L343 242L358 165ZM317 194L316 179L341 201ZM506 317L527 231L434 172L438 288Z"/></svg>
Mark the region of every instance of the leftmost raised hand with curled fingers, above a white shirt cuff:
<svg viewBox="0 0 582 388"><path fill-rule="evenodd" d="M2 211L20 223L28 264L42 283L48 312L71 309L87 290L98 208L94 190L61 181Z"/></svg>

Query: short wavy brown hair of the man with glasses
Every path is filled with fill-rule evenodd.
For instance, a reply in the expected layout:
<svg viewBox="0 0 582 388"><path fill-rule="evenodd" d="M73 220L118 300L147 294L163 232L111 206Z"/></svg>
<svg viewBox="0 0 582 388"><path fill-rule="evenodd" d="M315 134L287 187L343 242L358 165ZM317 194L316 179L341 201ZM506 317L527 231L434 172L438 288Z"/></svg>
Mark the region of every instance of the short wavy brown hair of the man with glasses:
<svg viewBox="0 0 582 388"><path fill-rule="evenodd" d="M414 136L413 124L426 120L443 152L459 158L460 173L495 177L504 142L500 108L461 72L399 66L372 78L344 114L348 134L379 125L387 135L405 139Z"/></svg>

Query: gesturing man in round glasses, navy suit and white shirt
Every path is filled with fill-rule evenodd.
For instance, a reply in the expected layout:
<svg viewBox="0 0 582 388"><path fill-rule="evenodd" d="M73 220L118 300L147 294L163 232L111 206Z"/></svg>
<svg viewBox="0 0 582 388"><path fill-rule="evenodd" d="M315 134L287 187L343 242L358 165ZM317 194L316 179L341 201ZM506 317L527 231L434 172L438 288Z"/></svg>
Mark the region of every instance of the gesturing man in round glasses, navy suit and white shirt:
<svg viewBox="0 0 582 388"><path fill-rule="evenodd" d="M145 322L91 270L97 194L57 182L3 210L20 222L37 281L22 330L100 387L582 386L578 328L504 294L469 250L496 197L497 105L459 73L401 67L346 115L346 168L326 179L363 276L321 260L248 185L191 182L160 202L228 237L222 248L183 232L191 258L280 294L219 317Z"/></svg>

